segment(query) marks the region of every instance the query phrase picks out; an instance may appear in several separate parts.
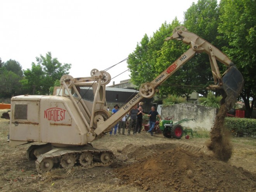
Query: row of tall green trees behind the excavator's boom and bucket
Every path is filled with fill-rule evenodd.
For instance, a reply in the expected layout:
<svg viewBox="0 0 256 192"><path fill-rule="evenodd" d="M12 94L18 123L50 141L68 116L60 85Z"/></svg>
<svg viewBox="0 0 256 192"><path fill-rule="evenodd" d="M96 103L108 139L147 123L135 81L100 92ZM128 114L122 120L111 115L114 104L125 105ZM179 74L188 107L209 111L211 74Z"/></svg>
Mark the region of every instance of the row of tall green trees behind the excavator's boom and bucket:
<svg viewBox="0 0 256 192"><path fill-rule="evenodd" d="M188 31L204 38L227 54L243 74L245 86L240 94L246 104L247 117L251 117L256 100L256 3L255 0L198 0L184 13L184 24ZM164 42L181 23L176 18L171 24L164 22L149 37L144 35L127 61L131 81L139 86L152 81L187 49L178 41ZM226 66L219 64L220 72ZM186 96L194 90L207 95L206 87L213 84L209 56L196 54L187 64L165 81L168 86L159 86L159 95L177 94Z"/></svg>

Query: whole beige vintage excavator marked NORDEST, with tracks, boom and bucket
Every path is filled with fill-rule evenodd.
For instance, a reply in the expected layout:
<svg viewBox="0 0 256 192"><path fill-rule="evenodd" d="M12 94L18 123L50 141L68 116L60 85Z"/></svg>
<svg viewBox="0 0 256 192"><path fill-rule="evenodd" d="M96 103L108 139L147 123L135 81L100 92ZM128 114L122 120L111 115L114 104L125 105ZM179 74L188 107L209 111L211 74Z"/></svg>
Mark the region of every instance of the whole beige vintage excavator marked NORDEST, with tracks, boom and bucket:
<svg viewBox="0 0 256 192"><path fill-rule="evenodd" d="M107 71L93 69L90 77L73 78L63 75L61 87L55 95L21 95L11 99L10 146L31 142L27 150L28 159L35 159L39 173L49 171L54 164L69 169L75 163L85 168L108 166L114 154L110 150L95 149L91 142L101 138L135 105L144 98L151 98L156 88L189 61L196 53L209 55L214 85L210 89L220 90L227 109L234 106L242 91L244 79L232 61L216 47L180 26L166 40L182 40L190 45L165 71L151 82L140 86L139 92L120 107L114 116L109 116L106 104L106 85L111 76ZM227 66L221 76L217 61ZM93 99L82 99L79 89L91 90ZM89 97L88 97L89 98Z"/></svg>

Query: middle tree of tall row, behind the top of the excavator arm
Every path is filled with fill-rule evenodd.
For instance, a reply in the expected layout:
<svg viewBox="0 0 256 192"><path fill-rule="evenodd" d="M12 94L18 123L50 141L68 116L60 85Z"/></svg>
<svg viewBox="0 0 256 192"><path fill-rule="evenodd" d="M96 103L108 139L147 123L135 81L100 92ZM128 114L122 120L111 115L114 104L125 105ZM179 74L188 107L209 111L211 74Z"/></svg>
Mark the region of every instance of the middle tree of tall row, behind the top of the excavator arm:
<svg viewBox="0 0 256 192"><path fill-rule="evenodd" d="M220 42L216 38L219 34L219 15L217 0L199 0L197 3L192 3L185 12L184 26L188 31L195 33L215 47L220 48ZM186 64L186 67L187 75L192 78L191 85L198 86L196 92L206 96L208 91L203 88L214 82L208 54L195 55ZM224 65L219 63L219 69L223 72L224 67Z"/></svg>

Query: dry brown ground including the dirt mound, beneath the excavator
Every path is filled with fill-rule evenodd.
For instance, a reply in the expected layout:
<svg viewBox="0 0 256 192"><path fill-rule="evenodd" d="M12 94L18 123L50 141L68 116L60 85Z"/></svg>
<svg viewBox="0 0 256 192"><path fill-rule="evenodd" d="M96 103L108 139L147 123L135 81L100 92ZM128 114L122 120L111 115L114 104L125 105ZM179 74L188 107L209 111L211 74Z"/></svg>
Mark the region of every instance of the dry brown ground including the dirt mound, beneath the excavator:
<svg viewBox="0 0 256 192"><path fill-rule="evenodd" d="M4 110L0 111L0 115ZM0 191L256 191L256 139L231 138L232 155L225 162L208 149L209 138L186 140L137 135L105 137L93 147L115 154L109 167L74 166L38 174L26 158L30 146L10 147L9 120L0 119Z"/></svg>

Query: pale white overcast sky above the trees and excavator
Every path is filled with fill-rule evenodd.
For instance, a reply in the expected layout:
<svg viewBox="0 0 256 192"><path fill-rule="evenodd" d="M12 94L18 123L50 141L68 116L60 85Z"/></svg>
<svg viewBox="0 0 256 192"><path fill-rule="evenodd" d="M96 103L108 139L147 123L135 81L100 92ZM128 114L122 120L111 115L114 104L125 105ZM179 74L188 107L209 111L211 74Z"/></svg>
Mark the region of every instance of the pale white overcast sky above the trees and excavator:
<svg viewBox="0 0 256 192"><path fill-rule="evenodd" d="M89 77L92 69L126 59L165 21L183 22L192 2L197 0L1 0L0 58L31 69L36 57L51 52L72 65L74 78ZM109 85L129 79L126 70L126 62L108 70Z"/></svg>

